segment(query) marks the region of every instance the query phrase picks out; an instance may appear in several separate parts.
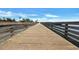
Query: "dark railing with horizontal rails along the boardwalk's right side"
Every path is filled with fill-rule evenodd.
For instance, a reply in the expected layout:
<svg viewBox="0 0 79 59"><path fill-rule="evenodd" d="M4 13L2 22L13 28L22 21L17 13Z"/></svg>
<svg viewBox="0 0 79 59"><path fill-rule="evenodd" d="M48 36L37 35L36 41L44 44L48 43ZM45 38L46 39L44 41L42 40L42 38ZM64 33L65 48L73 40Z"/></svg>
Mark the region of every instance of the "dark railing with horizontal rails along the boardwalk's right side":
<svg viewBox="0 0 79 59"><path fill-rule="evenodd" d="M42 24L79 47L79 22L42 22Z"/></svg>

